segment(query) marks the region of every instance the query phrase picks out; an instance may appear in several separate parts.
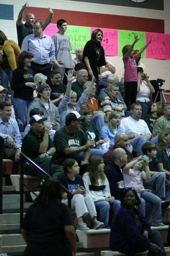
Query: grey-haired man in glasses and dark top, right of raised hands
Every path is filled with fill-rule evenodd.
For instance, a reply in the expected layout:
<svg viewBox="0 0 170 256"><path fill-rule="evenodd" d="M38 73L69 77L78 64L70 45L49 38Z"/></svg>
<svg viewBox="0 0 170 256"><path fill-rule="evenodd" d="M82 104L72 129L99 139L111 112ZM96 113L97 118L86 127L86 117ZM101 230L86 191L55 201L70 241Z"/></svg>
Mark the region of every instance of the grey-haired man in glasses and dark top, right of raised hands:
<svg viewBox="0 0 170 256"><path fill-rule="evenodd" d="M83 86L88 81L88 72L86 69L80 69L77 72L77 80L76 82L71 84L71 90L77 93L77 101L82 96L84 91Z"/></svg>

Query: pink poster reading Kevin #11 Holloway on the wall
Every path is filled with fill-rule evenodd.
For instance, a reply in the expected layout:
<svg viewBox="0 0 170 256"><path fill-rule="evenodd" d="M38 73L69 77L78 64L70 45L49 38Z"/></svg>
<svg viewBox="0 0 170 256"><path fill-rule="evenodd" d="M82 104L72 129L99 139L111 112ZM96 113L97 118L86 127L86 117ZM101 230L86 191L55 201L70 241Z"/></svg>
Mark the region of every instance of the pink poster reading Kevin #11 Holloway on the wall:
<svg viewBox="0 0 170 256"><path fill-rule="evenodd" d="M146 49L146 58L170 60L170 35L162 33L145 33L147 43L152 35L152 41Z"/></svg>

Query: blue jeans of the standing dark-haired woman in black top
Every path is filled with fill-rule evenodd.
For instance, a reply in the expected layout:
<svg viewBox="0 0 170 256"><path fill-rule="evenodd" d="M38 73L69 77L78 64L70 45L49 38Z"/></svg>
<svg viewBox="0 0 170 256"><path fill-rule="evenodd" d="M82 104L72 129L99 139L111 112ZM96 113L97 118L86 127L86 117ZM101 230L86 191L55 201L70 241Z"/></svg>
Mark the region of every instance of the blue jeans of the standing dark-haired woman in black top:
<svg viewBox="0 0 170 256"><path fill-rule="evenodd" d="M24 129L26 126L27 110L31 106L32 103L34 103L34 101L25 101L20 98L14 98L15 116L16 116L16 119L19 119L22 121Z"/></svg>

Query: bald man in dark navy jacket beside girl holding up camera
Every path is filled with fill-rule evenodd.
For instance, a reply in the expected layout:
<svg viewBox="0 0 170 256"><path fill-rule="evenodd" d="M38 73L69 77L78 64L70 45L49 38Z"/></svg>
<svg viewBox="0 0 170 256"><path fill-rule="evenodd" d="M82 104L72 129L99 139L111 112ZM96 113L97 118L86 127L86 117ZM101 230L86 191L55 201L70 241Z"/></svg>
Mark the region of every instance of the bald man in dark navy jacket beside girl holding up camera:
<svg viewBox="0 0 170 256"><path fill-rule="evenodd" d="M112 162L105 168L105 174L107 176L111 196L115 199L121 199L121 196L125 190L124 177L123 177L123 166L127 163L127 153L123 148L116 148L112 152ZM135 188L138 190L138 188ZM121 201L120 205L121 207ZM140 210L145 215L145 200L141 198Z"/></svg>

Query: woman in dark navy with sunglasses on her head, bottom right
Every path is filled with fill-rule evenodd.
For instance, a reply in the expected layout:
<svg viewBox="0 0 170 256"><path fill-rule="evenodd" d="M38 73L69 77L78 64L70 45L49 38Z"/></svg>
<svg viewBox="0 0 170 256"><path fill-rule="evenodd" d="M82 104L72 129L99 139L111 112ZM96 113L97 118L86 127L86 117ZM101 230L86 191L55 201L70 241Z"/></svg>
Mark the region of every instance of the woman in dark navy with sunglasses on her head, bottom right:
<svg viewBox="0 0 170 256"><path fill-rule="evenodd" d="M149 250L148 256L166 255L159 231L151 231L144 215L136 209L140 203L134 188L124 190L121 209L111 225L110 248L127 256L145 250Z"/></svg>

